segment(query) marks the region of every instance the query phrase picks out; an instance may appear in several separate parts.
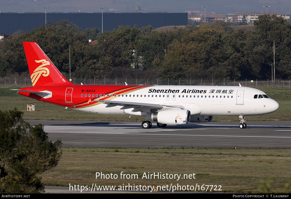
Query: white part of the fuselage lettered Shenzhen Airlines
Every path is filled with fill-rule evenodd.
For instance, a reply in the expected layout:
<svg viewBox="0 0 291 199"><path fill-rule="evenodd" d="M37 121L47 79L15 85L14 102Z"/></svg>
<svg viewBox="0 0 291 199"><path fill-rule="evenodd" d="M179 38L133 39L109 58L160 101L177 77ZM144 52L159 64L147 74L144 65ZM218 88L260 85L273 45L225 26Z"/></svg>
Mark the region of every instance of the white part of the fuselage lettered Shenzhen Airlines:
<svg viewBox="0 0 291 199"><path fill-rule="evenodd" d="M266 96L258 89L243 86L150 86L113 95L108 100L176 106L189 110L191 115L262 115L278 109L275 100L258 98L259 95ZM122 110L122 107L98 104L77 110L146 116L144 112L132 112L134 108Z"/></svg>

